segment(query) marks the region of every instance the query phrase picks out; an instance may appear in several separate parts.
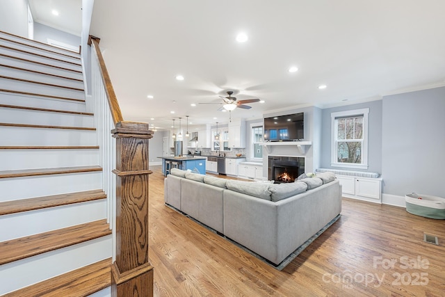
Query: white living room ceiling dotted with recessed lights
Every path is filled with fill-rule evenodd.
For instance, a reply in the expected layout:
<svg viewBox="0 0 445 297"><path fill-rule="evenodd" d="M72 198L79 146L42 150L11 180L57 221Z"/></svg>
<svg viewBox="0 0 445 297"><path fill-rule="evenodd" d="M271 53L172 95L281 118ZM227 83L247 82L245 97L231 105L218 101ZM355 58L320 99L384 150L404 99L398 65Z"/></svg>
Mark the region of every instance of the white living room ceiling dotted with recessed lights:
<svg viewBox="0 0 445 297"><path fill-rule="evenodd" d="M232 111L249 120L444 86L444 11L443 0L95 0L90 34L124 119L169 129L186 115L227 122L218 104L191 106L227 90L265 101ZM241 31L248 42L236 42Z"/></svg>

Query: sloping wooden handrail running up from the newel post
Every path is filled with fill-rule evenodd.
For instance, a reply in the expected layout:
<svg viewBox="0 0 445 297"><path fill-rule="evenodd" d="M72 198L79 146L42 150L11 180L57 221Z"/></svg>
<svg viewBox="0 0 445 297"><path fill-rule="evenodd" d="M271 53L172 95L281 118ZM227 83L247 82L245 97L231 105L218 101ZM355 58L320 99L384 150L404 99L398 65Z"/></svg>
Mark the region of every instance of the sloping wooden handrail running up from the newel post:
<svg viewBox="0 0 445 297"><path fill-rule="evenodd" d="M114 125L118 124L118 122L123 122L124 118L122 118L122 112L120 111L118 97L116 97L116 93L114 92L113 85L111 83L110 75L108 74L108 70L106 70L104 57L99 48L99 38L90 35L88 38L88 45L92 45L97 55L97 59L99 60L100 72L102 81L104 82L106 97L108 98L108 105L110 106L111 117L113 118Z"/></svg>

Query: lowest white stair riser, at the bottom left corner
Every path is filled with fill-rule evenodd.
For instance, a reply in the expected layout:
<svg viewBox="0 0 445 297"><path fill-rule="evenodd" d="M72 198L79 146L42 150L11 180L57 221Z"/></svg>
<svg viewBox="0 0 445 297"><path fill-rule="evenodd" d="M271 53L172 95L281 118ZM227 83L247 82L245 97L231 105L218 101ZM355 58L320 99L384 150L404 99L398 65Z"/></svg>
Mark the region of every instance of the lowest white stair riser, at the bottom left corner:
<svg viewBox="0 0 445 297"><path fill-rule="evenodd" d="M111 257L111 235L4 264L0 295Z"/></svg>

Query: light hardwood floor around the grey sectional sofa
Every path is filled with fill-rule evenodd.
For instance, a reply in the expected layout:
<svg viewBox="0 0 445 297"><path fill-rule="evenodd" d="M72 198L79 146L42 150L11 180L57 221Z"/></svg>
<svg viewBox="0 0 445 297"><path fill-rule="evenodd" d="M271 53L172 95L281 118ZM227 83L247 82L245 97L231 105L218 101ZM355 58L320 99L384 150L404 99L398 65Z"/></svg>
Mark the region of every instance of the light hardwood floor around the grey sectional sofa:
<svg viewBox="0 0 445 297"><path fill-rule="evenodd" d="M166 207L161 166L150 169L154 296L445 296L444 220L345 198L341 218L277 271Z"/></svg>

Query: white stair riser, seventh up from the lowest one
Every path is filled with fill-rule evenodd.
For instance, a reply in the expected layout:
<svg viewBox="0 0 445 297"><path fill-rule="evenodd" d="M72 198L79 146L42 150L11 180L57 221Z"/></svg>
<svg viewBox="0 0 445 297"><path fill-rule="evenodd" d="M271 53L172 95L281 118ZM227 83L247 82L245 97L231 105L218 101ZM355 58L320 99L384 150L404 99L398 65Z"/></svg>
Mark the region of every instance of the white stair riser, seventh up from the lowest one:
<svg viewBox="0 0 445 297"><path fill-rule="evenodd" d="M0 104L37 107L40 109L60 109L63 111L86 111L85 102L20 95L14 93L0 92Z"/></svg>

